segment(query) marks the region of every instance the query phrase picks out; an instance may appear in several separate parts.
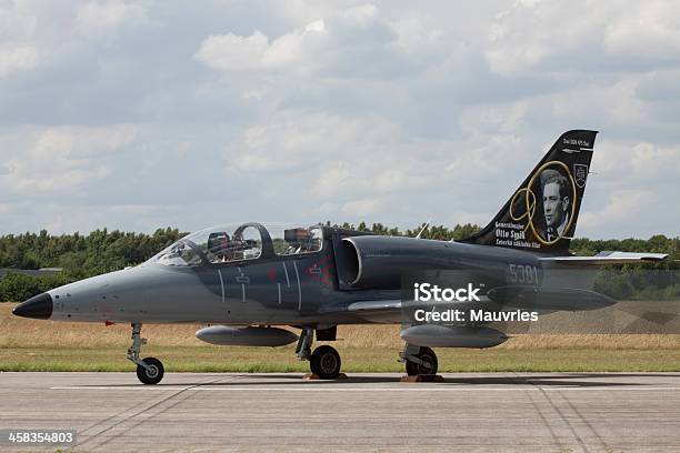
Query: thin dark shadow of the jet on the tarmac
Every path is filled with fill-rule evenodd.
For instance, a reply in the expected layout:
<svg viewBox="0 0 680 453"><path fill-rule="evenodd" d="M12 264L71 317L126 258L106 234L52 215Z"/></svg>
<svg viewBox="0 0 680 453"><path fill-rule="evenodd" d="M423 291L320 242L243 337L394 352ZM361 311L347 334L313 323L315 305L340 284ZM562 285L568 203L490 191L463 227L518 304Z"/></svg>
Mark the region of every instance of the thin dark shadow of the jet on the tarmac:
<svg viewBox="0 0 680 453"><path fill-rule="evenodd" d="M216 375L217 376L217 375ZM680 374L651 374L651 373L569 373L569 374L536 374L536 375L503 375L503 376L451 376L450 374L444 378L443 382L437 383L424 383L428 386L449 386L456 384L467 385L526 385L526 386L568 386L568 387L613 387L613 386L644 386L653 385L640 382L602 382L602 381L586 381L584 379L593 378L677 378L680 379ZM227 379L227 376L224 376ZM334 380L334 381L306 381L300 374L234 374L233 380L228 382L168 382L159 383L156 387L163 386L262 386L268 384L279 385L329 385L329 384L374 384L374 383L396 383L399 382L399 378L393 375L349 375L348 379ZM251 379L246 381L244 379ZM276 381L276 382L267 382ZM419 383L404 383L404 386L418 386ZM423 383L420 383L422 385ZM91 384L82 386L98 387L107 385L109 387L130 387L130 386L143 386L141 384Z"/></svg>

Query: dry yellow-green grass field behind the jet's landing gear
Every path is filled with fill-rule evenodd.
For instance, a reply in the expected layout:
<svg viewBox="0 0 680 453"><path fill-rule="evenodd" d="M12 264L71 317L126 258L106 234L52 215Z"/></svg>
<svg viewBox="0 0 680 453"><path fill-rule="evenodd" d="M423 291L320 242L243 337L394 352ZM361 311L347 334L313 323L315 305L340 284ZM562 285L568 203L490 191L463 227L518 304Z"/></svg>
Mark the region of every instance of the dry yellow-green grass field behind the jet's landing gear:
<svg viewBox="0 0 680 453"><path fill-rule="evenodd" d="M124 359L128 325L57 323L11 315L0 304L0 371L132 371ZM212 346L194 338L200 325L144 325L149 345L168 371L308 371L282 348ZM340 326L334 346L346 372L401 372L399 325ZM680 335L518 335L488 350L439 349L441 372L680 371Z"/></svg>

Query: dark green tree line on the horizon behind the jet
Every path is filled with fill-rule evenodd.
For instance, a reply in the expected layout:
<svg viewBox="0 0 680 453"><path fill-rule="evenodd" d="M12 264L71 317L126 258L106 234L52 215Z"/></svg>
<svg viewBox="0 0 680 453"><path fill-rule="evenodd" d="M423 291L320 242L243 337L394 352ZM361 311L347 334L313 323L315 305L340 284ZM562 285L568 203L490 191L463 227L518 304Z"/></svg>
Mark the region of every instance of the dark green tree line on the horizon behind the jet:
<svg viewBox="0 0 680 453"><path fill-rule="evenodd" d="M331 225L330 222L326 222ZM416 236L423 239L460 240L480 230L476 224L446 225L420 224L413 229L400 230L382 223L370 226L366 222L333 224L346 229L371 231L377 234ZM61 268L53 275L32 276L9 271L0 279L0 301L21 301L51 288L76 280L139 264L186 235L178 229L159 229L152 234L123 231L96 230L89 234L40 233L7 234L0 236L0 268L42 269ZM649 239L590 240L574 239L571 252L593 255L602 250L626 252L669 253L671 261L658 264L657 269L677 269L672 260L680 260L680 238L657 234Z"/></svg>

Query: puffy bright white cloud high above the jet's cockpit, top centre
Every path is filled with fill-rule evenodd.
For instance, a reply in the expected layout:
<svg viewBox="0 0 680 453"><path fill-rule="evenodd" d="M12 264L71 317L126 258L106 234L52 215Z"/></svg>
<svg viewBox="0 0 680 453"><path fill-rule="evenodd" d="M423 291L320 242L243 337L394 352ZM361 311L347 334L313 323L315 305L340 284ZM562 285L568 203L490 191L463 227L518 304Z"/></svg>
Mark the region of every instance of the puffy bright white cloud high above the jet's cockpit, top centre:
<svg viewBox="0 0 680 453"><path fill-rule="evenodd" d="M439 46L441 31L417 20L390 22L373 4L326 11L324 17L270 38L256 30L250 36L210 36L194 58L232 76L259 71L288 76L346 78L389 77L394 68L418 66Z"/></svg>

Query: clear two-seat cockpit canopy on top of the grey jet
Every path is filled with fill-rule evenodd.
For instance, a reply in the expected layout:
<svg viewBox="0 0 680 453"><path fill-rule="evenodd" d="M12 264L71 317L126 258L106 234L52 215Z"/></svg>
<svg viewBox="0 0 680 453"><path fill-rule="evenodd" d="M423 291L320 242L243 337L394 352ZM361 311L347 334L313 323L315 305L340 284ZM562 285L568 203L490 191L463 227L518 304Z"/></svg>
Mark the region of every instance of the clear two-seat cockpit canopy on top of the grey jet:
<svg viewBox="0 0 680 453"><path fill-rule="evenodd" d="M319 225L303 228L283 224L224 224L197 231L180 239L148 263L196 266L313 253L323 246Z"/></svg>

